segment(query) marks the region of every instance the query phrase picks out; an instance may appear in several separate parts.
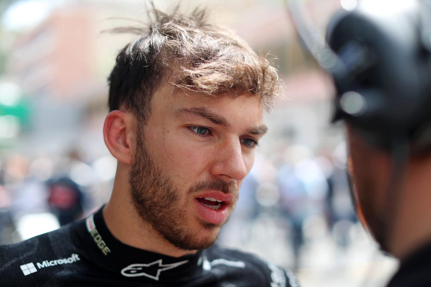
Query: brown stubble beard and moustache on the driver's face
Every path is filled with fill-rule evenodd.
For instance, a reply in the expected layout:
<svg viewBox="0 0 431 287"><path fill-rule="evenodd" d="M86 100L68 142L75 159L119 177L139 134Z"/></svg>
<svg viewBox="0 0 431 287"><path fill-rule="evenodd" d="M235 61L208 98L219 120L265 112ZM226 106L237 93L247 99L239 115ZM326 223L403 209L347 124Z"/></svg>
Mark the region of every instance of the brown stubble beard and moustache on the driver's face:
<svg viewBox="0 0 431 287"><path fill-rule="evenodd" d="M145 145L142 127L137 127L137 147L134 162L129 173L131 201L141 220L150 224L154 231L170 244L181 250L203 250L217 240L222 224L198 220L199 225L211 236L202 237L187 226L186 207L181 203L181 194L172 178L166 174L151 156ZM234 193L237 198L236 183L220 179L210 182L196 182L187 191L187 196L197 191L211 188L225 193ZM215 231L216 230L216 231Z"/></svg>

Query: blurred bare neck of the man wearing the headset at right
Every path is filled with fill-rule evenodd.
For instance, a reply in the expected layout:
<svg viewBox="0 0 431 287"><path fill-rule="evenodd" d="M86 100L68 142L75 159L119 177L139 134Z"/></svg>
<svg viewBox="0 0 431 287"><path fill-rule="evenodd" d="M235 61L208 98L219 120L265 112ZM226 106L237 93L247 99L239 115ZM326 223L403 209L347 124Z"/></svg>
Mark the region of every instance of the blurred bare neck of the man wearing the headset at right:
<svg viewBox="0 0 431 287"><path fill-rule="evenodd" d="M390 245L391 253L400 260L431 242L430 171L431 160L410 164L407 171Z"/></svg>

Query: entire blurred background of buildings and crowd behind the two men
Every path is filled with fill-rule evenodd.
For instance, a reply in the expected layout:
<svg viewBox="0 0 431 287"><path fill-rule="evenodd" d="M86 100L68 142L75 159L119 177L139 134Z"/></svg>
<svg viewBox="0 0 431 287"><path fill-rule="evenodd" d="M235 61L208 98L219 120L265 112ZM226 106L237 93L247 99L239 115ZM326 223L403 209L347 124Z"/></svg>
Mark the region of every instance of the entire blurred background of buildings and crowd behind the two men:
<svg viewBox="0 0 431 287"><path fill-rule="evenodd" d="M177 1L155 0L169 10ZM116 161L103 142L106 78L145 1L0 3L0 243L21 241L107 201ZM315 25L354 0L304 0ZM330 79L302 51L282 0L183 0L274 58L284 97L219 243L293 268L303 287L384 286L397 262L356 220L342 128L331 125ZM371 272L371 271L372 272Z"/></svg>

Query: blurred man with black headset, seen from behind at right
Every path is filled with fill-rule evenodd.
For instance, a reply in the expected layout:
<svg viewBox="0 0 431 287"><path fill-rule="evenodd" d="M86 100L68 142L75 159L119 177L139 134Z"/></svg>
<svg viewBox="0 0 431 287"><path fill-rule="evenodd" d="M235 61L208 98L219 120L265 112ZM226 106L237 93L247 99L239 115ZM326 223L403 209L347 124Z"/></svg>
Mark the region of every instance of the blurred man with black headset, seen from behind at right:
<svg viewBox="0 0 431 287"><path fill-rule="evenodd" d="M400 259L388 287L429 287L431 4L379 7L344 12L332 23L336 119L347 123L359 218Z"/></svg>

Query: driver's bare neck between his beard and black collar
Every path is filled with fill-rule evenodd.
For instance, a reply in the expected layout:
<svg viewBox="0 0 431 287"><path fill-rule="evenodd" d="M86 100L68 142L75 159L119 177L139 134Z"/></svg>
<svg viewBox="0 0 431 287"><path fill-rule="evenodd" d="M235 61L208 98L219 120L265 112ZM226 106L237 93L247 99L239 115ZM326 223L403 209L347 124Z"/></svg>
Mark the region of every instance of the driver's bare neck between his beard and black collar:
<svg viewBox="0 0 431 287"><path fill-rule="evenodd" d="M124 170L124 167L117 168L111 198L103 208L103 218L112 235L132 247L172 257L196 253L197 250L181 250L173 246L139 216L129 192L128 171Z"/></svg>

